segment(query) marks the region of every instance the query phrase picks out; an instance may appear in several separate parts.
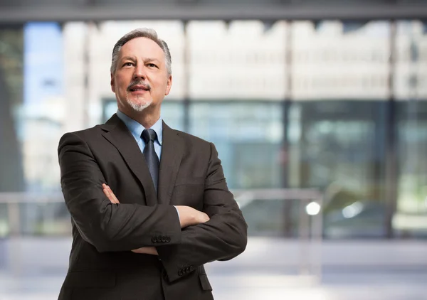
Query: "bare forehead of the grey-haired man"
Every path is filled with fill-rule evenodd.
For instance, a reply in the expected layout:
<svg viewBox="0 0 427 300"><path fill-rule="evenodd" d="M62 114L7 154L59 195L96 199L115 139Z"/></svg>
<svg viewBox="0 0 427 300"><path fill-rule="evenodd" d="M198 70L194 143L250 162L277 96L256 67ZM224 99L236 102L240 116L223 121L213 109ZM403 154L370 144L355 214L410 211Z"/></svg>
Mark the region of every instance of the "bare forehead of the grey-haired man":
<svg viewBox="0 0 427 300"><path fill-rule="evenodd" d="M162 48L149 38L133 38L122 45L120 57L136 56L137 58L165 59Z"/></svg>

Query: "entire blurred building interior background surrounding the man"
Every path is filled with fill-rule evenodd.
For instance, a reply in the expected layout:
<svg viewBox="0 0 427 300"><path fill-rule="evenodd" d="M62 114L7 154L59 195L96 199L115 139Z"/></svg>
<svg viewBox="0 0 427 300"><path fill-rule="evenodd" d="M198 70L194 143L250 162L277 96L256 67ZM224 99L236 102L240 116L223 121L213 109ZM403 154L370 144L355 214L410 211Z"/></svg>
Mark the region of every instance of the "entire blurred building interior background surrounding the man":
<svg viewBox="0 0 427 300"><path fill-rule="evenodd" d="M214 142L249 225L216 299L427 299L427 1L1 0L0 299L57 299L57 146L105 122L112 47L154 28L162 117Z"/></svg>

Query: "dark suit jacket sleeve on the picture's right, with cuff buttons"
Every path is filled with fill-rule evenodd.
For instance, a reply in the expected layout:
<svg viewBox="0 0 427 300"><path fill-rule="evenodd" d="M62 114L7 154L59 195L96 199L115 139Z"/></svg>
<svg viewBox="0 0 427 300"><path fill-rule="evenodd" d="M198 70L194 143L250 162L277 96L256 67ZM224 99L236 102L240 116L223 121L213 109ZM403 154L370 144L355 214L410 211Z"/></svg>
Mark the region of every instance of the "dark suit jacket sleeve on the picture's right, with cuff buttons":
<svg viewBox="0 0 427 300"><path fill-rule="evenodd" d="M246 249L248 226L228 191L214 144L211 144L203 203L204 213L210 218L208 222L184 228L179 245L157 247L171 282L202 264L232 259Z"/></svg>

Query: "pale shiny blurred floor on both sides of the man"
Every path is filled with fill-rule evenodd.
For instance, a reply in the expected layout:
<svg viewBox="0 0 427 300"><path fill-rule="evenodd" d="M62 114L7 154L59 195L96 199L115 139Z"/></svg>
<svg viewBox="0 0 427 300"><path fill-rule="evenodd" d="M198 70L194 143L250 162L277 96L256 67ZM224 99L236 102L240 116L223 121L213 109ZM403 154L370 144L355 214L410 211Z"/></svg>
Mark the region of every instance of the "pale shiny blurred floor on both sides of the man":
<svg viewBox="0 0 427 300"><path fill-rule="evenodd" d="M56 246L54 241L48 242L50 251L58 254L69 241ZM38 241L37 245L41 247L41 243ZM215 299L427 299L427 242L325 242L321 276L294 272L298 269L294 261L298 250L301 248L297 242L251 239L241 257L206 266ZM57 299L66 272L65 255L56 257L51 253L53 259L43 262L48 252L29 253L21 252L20 274L0 271L0 300ZM39 268L26 255L38 256L39 262L49 265Z"/></svg>

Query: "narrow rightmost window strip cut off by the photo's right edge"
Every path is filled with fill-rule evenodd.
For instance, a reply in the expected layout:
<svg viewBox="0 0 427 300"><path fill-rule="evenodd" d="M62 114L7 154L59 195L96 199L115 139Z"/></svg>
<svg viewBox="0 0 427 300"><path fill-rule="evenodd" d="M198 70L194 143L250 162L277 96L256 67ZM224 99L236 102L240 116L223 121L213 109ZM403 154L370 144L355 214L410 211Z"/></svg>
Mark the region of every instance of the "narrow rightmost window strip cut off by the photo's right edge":
<svg viewBox="0 0 427 300"><path fill-rule="evenodd" d="M398 236L427 235L427 34L421 21L396 23L394 92L396 108Z"/></svg>

